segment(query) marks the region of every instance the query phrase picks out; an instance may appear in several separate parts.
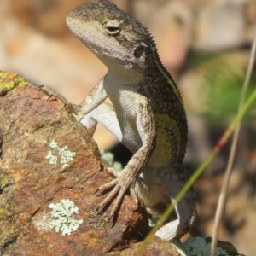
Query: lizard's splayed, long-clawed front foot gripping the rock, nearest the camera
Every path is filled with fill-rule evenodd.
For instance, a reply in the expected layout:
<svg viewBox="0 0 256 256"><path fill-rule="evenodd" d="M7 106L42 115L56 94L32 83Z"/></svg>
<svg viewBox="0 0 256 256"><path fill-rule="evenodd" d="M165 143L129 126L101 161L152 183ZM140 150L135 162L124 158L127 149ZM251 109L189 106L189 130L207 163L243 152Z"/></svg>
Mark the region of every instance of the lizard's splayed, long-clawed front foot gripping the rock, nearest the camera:
<svg viewBox="0 0 256 256"><path fill-rule="evenodd" d="M112 169L112 168L109 168ZM109 172L110 170L108 170ZM111 173L113 173L113 169L110 171ZM124 170L125 171L125 170ZM119 177L115 178L113 181L106 183L104 185L102 185L99 189L97 189L97 191L99 190L105 190L105 189L109 189L111 187L113 187L113 190L108 194L108 196L101 202L100 206L98 207L98 211L102 212L102 209L108 204L109 201L111 201L113 199L113 196L117 195L117 198L114 202L112 211L110 212L109 215L109 219L113 217L113 215L115 214L115 212L117 211L121 201L123 200L126 190L129 189L131 196L133 198L133 200L137 203L137 195L135 192L135 182L136 182L136 178L132 178L132 177L127 177L127 175L125 175L125 172L119 172L120 174L118 175ZM116 171L114 171L116 172ZM118 173L118 172L117 172ZM97 192L96 191L96 192Z"/></svg>

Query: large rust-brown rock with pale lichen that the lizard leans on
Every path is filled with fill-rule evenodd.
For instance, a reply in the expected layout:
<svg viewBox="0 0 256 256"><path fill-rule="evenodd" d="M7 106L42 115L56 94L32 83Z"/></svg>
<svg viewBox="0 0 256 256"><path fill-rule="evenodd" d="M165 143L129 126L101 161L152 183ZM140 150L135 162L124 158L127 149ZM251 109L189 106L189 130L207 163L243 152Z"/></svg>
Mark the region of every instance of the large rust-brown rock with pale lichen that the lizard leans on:
<svg viewBox="0 0 256 256"><path fill-rule="evenodd" d="M16 74L0 73L0 79L0 254L102 255L142 240L148 220L131 196L125 196L114 225L106 222L106 214L95 213L106 196L96 197L96 189L111 177L102 172L96 143L86 129L61 102L48 101L49 96ZM62 151L49 148L53 141ZM46 158L49 150L56 160ZM70 236L49 224L49 205L63 199L79 208L73 219L83 220ZM112 205L108 207L107 213Z"/></svg>

